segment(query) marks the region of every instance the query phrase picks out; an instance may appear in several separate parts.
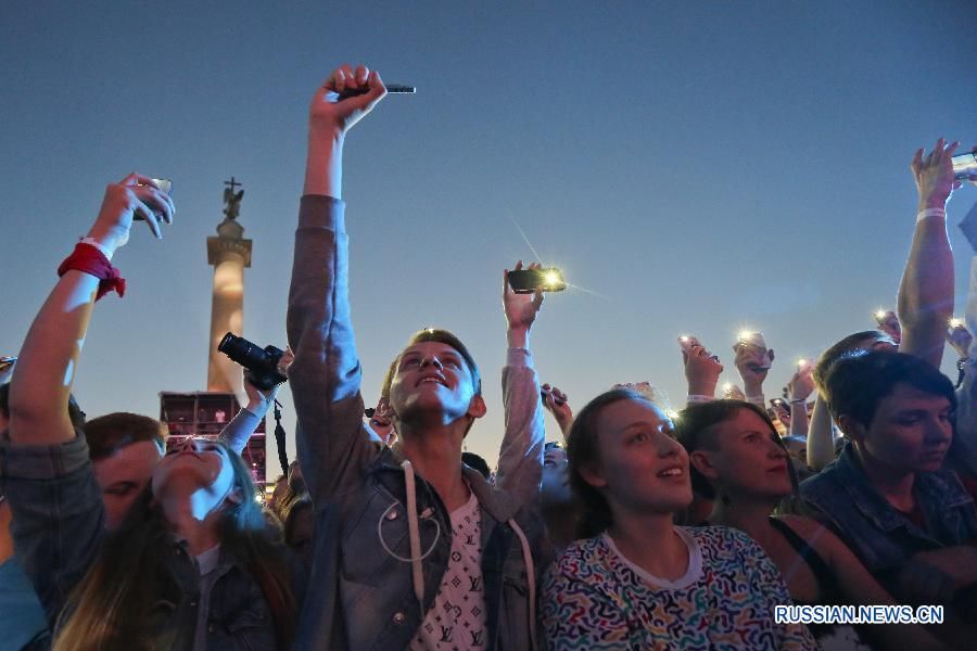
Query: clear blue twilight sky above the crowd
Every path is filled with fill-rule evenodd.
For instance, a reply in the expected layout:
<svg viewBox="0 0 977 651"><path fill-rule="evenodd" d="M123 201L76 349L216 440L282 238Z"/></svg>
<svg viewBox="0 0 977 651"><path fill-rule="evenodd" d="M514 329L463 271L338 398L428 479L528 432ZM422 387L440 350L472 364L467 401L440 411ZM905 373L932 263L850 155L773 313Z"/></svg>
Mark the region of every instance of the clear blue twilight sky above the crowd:
<svg viewBox="0 0 977 651"><path fill-rule="evenodd" d="M161 242L135 230L116 255L128 293L96 310L83 408L158 417L160 391L205 388L205 241L231 175L254 240L244 335L283 347L307 105L344 62L418 87L346 141L365 398L413 331L456 331L490 408L468 448L491 465L502 270L535 259L517 224L588 290L547 296L531 342L576 408L642 380L681 405L682 333L738 381L745 326L778 353L772 397L794 360L894 304L914 150L977 144L977 3L344 4L7 3L0 355L16 354L105 184L134 169L174 180L176 221ZM968 186L949 209L959 315L973 252L956 224L975 202ZM280 399L291 434L287 388Z"/></svg>

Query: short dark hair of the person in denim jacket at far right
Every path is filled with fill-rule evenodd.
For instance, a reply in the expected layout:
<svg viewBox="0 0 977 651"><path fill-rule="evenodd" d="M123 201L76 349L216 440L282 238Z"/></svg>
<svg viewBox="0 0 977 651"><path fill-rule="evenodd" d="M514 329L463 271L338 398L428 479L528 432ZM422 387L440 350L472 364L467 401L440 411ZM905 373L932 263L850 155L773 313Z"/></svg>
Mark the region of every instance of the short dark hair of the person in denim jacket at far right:
<svg viewBox="0 0 977 651"><path fill-rule="evenodd" d="M835 420L847 416L863 426L872 425L878 404L897 384L947 398L956 409L953 383L932 365L905 353L853 353L828 369L824 387Z"/></svg>

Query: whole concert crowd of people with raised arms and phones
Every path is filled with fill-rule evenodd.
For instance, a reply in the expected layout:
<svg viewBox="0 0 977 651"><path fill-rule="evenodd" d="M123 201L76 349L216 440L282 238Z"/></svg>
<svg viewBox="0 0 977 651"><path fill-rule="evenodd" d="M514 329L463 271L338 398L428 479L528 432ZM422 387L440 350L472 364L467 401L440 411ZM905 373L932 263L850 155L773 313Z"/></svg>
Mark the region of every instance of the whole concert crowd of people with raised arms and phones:
<svg viewBox="0 0 977 651"><path fill-rule="evenodd" d="M376 71L341 66L312 102L279 365L297 462L264 509L240 452L277 387L249 386L216 441L167 442L125 411L86 419L72 397L96 302L125 289L114 255L134 220L160 237L175 214L153 179L109 186L0 386L0 644L974 648L977 257L967 321L951 324L957 143L912 161L919 206L897 314L801 362L770 404L775 355L759 333L734 347L741 387L719 395L722 361L689 334L654 369L684 372L684 409L608 379L574 413L530 349L543 291L516 292L505 272L505 433L490 472L462 455L488 406L456 334L413 334L365 409L342 154L384 95ZM938 370L948 341L953 381ZM943 616L805 622L775 616L784 605Z"/></svg>

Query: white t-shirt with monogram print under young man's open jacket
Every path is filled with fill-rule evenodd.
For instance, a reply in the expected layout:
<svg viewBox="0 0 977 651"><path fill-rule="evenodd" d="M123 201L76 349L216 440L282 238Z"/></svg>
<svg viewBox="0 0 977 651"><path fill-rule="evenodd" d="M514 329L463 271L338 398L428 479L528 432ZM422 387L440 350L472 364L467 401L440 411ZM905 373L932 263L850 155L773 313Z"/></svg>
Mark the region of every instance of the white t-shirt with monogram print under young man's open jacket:
<svg viewBox="0 0 977 651"><path fill-rule="evenodd" d="M411 651L483 649L485 587L482 577L482 509L474 493L452 511L452 552L434 604L410 642Z"/></svg>

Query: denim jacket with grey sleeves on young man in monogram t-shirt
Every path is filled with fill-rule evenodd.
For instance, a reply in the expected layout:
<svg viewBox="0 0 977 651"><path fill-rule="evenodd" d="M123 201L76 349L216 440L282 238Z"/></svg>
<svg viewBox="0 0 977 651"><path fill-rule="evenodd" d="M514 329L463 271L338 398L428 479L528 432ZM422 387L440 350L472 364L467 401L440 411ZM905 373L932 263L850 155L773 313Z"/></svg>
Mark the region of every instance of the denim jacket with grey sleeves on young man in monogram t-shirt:
<svg viewBox="0 0 977 651"><path fill-rule="evenodd" d="M295 352L289 383L299 416L299 460L316 509L314 563L296 648L405 649L437 595L452 525L436 492L418 476L421 604L409 562L403 457L371 442L363 422L343 206L328 196L302 199L289 294L289 343ZM522 449L542 457L542 439ZM518 468L512 461L508 467ZM485 649L530 648L531 597L551 556L541 519L520 502L538 493L537 467L542 463L526 463L531 472L522 473L529 478L518 499L462 469L482 512ZM506 483L518 488L511 475Z"/></svg>

